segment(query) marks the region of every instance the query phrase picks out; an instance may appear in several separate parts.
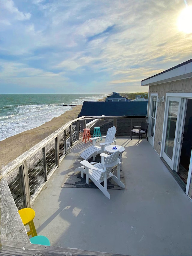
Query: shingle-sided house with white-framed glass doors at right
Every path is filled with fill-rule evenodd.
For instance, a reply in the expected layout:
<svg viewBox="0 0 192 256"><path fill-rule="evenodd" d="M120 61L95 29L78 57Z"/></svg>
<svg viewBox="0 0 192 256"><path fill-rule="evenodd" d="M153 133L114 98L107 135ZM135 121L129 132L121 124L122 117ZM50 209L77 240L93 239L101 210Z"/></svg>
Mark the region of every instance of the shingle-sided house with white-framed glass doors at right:
<svg viewBox="0 0 192 256"><path fill-rule="evenodd" d="M192 59L142 80L146 85L149 142L192 198Z"/></svg>

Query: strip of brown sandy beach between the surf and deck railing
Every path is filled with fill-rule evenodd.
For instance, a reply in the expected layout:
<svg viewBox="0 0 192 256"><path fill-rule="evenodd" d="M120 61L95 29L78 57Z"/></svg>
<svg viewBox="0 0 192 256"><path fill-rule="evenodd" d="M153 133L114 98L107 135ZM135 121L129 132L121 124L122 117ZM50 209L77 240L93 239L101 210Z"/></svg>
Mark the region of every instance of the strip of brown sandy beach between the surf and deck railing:
<svg viewBox="0 0 192 256"><path fill-rule="evenodd" d="M72 110L66 111L58 117L54 117L51 121L28 131L21 132L0 141L1 158L0 169L13 161L19 155L23 154L32 146L45 139L47 136L58 130L70 120L76 119L80 113L82 105L74 106Z"/></svg>

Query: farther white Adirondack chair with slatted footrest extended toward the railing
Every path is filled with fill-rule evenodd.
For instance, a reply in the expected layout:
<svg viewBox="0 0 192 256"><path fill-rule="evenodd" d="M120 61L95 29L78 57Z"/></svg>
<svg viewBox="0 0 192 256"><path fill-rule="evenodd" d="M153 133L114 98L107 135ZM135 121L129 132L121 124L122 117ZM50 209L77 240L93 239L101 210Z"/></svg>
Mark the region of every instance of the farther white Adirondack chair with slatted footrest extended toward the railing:
<svg viewBox="0 0 192 256"><path fill-rule="evenodd" d="M96 155L104 152L105 146L111 145L111 143L114 143L116 141L115 134L116 134L116 127L113 126L107 130L106 136L91 138L93 145L85 149L80 154L80 156L85 160L88 160L89 158L93 157L93 161L94 161ZM96 140L100 138L105 138L105 142L99 143L100 146L96 146L95 144Z"/></svg>

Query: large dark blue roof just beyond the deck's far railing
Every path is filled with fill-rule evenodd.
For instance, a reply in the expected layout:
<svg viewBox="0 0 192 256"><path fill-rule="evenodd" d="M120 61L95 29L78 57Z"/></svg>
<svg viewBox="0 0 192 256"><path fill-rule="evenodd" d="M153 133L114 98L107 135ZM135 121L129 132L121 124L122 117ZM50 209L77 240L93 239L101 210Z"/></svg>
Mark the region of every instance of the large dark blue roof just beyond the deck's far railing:
<svg viewBox="0 0 192 256"><path fill-rule="evenodd" d="M146 116L147 101L84 101L80 116Z"/></svg>

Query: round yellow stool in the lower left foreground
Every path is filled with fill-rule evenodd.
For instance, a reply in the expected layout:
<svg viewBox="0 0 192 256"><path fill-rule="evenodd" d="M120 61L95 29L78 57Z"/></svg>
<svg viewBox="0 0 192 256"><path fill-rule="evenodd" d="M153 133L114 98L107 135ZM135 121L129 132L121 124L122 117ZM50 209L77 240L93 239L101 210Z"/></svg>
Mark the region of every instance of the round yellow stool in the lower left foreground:
<svg viewBox="0 0 192 256"><path fill-rule="evenodd" d="M30 231L27 232L28 236L30 235L37 236L37 231L33 223L33 219L35 217L35 211L31 208L23 208L23 209L20 209L18 212L24 226L29 225Z"/></svg>

